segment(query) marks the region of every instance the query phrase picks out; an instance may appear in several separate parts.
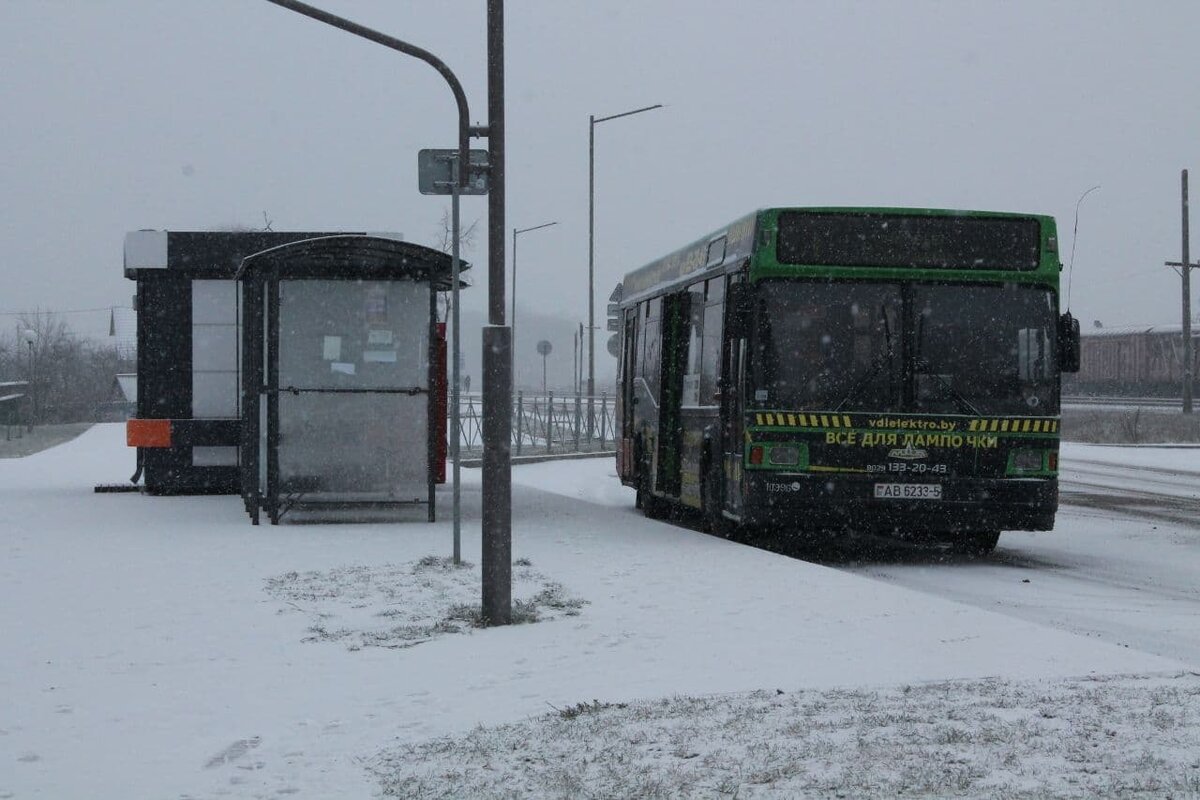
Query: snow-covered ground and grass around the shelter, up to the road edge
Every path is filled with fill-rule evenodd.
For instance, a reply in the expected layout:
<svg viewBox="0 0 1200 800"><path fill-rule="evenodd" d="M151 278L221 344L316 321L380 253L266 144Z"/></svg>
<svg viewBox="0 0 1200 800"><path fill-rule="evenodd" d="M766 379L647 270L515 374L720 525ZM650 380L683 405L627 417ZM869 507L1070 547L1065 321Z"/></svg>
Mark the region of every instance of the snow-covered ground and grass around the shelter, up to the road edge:
<svg viewBox="0 0 1200 800"><path fill-rule="evenodd" d="M478 630L448 522L92 494L122 433L0 461L0 798L1200 792L1195 661L643 519L608 459L515 468L542 621Z"/></svg>

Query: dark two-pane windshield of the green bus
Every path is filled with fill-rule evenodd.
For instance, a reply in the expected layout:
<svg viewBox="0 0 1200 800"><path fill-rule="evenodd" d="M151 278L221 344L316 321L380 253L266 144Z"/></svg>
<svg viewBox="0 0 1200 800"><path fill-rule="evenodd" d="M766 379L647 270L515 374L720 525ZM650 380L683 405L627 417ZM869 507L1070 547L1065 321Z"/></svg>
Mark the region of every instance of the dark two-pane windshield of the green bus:
<svg viewBox="0 0 1200 800"><path fill-rule="evenodd" d="M780 279L757 294L752 407L1058 413L1048 289Z"/></svg>

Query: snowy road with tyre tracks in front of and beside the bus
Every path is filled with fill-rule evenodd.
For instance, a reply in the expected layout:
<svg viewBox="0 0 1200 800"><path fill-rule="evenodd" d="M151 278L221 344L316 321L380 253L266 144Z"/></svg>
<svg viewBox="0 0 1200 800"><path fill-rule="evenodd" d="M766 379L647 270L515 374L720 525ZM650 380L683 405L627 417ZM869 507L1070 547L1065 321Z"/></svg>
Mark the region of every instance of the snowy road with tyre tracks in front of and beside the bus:
<svg viewBox="0 0 1200 800"><path fill-rule="evenodd" d="M1200 664L1200 449L1064 445L1052 533L994 555L834 555L846 571Z"/></svg>

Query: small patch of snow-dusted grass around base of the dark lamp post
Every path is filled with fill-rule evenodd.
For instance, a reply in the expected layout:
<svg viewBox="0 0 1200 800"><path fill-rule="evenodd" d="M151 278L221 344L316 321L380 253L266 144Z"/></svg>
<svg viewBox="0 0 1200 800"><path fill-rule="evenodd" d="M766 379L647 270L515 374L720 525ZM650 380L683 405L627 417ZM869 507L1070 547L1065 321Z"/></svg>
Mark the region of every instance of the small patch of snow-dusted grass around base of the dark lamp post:
<svg viewBox="0 0 1200 800"><path fill-rule="evenodd" d="M266 591L283 601L280 613L308 618L305 642L344 642L350 650L410 648L482 626L481 581L473 564L427 555L400 565L286 572L269 578ZM568 596L527 559L514 563L512 595L517 624L575 616L586 602Z"/></svg>

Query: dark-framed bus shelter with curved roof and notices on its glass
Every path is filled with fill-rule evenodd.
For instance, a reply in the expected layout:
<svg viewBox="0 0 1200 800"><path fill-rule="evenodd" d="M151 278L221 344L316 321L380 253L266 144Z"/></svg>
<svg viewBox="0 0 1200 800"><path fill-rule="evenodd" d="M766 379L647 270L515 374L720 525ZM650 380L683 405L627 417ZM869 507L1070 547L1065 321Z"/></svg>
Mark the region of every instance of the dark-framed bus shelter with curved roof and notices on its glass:
<svg viewBox="0 0 1200 800"><path fill-rule="evenodd" d="M466 266L466 265L462 265ZM246 511L425 504L445 471L445 339L437 291L450 257L366 235L246 257L240 470Z"/></svg>

